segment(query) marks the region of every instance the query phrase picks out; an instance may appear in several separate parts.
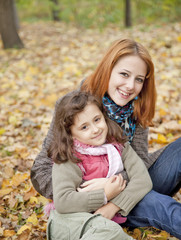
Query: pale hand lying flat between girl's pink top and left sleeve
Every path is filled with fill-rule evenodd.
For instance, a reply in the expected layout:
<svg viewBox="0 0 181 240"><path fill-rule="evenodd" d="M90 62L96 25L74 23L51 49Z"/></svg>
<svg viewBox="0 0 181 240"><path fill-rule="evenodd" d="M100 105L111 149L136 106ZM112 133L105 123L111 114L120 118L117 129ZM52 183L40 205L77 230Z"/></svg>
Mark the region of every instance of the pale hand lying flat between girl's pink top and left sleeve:
<svg viewBox="0 0 181 240"><path fill-rule="evenodd" d="M81 188L78 188L78 192L89 192L104 188L109 178L94 178L81 184Z"/></svg>

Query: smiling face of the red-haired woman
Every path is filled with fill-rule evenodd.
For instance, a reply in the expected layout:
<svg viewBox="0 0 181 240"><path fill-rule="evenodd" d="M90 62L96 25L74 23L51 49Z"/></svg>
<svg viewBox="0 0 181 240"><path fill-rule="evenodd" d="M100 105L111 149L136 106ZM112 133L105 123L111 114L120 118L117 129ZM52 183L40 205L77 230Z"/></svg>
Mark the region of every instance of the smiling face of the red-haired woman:
<svg viewBox="0 0 181 240"><path fill-rule="evenodd" d="M146 63L137 55L121 57L112 69L108 94L119 106L139 95L147 73Z"/></svg>

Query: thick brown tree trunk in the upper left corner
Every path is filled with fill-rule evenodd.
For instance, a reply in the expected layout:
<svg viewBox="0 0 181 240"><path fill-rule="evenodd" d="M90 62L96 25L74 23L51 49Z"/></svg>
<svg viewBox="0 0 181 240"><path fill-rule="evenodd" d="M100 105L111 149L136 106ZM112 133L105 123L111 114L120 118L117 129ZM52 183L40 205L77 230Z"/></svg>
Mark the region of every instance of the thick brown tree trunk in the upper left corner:
<svg viewBox="0 0 181 240"><path fill-rule="evenodd" d="M18 36L14 0L0 0L0 33L4 48L23 48Z"/></svg>

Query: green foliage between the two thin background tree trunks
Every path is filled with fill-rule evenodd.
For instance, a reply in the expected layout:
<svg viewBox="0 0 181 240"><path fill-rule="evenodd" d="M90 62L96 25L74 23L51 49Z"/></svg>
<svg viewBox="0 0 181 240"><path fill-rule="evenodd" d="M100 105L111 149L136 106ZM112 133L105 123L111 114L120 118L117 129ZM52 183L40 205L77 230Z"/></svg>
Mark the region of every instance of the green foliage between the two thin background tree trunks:
<svg viewBox="0 0 181 240"><path fill-rule="evenodd" d="M61 19L67 22L74 21L79 26L104 27L110 23L121 22L123 13L122 2L109 0L76 0L61 1Z"/></svg>

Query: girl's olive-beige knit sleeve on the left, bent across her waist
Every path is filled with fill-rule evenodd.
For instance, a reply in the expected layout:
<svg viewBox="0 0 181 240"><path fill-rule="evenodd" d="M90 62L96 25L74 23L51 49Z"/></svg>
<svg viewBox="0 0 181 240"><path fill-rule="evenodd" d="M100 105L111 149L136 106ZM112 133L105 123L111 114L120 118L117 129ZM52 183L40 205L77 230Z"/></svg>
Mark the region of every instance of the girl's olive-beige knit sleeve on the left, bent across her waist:
<svg viewBox="0 0 181 240"><path fill-rule="evenodd" d="M104 189L77 192L82 172L77 164L67 161L54 164L52 171L53 200L58 213L93 212L104 205Z"/></svg>

